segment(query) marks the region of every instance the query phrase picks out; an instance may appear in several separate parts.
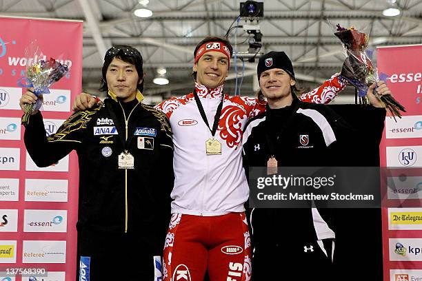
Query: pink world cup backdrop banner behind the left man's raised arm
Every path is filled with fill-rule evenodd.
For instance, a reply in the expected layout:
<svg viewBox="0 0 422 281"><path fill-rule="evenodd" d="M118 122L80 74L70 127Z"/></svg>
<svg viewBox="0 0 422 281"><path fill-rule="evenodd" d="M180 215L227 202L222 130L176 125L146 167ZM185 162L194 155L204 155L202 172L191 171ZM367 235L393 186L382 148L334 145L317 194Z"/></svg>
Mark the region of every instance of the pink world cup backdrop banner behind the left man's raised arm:
<svg viewBox="0 0 422 281"><path fill-rule="evenodd" d="M56 132L81 92L81 21L0 17L0 280L7 268L46 269L37 280L75 280L79 170L72 152L58 163L38 168L26 152L17 81L25 76L32 41L39 51L66 63L70 73L44 94L46 134ZM29 50L29 49L28 49ZM41 58L43 59L43 58ZM1 251L3 250L3 251ZM28 272L27 272L28 273Z"/></svg>

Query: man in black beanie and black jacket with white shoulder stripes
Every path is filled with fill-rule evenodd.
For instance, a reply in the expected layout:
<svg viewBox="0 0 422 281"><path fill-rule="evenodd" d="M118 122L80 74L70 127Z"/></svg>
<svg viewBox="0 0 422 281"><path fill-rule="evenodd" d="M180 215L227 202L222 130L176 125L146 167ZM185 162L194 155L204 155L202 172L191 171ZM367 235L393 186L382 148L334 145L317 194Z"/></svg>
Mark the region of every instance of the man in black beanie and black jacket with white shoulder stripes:
<svg viewBox="0 0 422 281"><path fill-rule="evenodd" d="M252 118L243 134L243 165L268 167L325 167L339 163L339 136L347 123L326 105L299 101L292 63L284 52L259 59L261 94L265 113ZM381 103L368 91L374 107ZM390 94L379 83L380 94ZM385 110L374 108L385 117ZM341 142L342 140L340 140ZM346 141L341 147L345 147ZM345 156L344 154L342 156ZM280 169L280 168L279 168ZM281 168L283 169L283 168ZM254 280L336 280L332 268L335 225L327 209L260 209L250 211L252 278Z"/></svg>

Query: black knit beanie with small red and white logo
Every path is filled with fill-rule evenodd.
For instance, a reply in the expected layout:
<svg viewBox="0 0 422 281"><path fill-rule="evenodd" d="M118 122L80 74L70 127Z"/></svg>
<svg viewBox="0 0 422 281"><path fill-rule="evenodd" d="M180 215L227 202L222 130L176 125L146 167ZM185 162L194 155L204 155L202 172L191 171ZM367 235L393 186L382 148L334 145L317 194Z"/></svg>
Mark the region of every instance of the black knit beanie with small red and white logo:
<svg viewBox="0 0 422 281"><path fill-rule="evenodd" d="M289 57L285 52L268 52L259 58L258 67L257 67L257 74L258 74L258 81L259 77L261 77L261 73L265 70L271 70L272 68L280 68L287 72L292 79L294 79L294 71L292 61L290 61Z"/></svg>

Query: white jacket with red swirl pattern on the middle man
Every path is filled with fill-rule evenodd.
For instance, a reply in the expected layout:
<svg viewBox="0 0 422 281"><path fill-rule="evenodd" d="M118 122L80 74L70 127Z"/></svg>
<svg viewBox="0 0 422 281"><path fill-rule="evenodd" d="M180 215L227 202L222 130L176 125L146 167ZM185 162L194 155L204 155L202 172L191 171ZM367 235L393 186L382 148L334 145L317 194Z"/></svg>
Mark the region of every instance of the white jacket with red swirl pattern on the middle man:
<svg viewBox="0 0 422 281"><path fill-rule="evenodd" d="M195 87L212 127L223 85L208 89L196 83ZM339 74L334 74L319 88L299 98L329 103L343 87ZM168 116L173 132L172 213L219 216L244 211L249 188L242 165L242 133L249 118L265 111L265 103L257 98L225 94L214 136L221 143L221 155L212 156L205 153L205 141L212 135L201 118L193 93L163 101L156 109Z"/></svg>

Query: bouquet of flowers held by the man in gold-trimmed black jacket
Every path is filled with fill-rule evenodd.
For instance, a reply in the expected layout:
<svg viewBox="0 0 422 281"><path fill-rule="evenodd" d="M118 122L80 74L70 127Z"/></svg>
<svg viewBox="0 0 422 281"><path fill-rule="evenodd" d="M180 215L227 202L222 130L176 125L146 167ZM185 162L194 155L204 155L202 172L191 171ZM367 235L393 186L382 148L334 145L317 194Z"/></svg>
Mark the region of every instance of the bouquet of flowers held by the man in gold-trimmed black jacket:
<svg viewBox="0 0 422 281"><path fill-rule="evenodd" d="M59 81L69 70L67 65L62 65L52 58L46 60L46 56L37 54L37 51L38 48L32 53L32 56L28 57L28 50L26 50L26 76L19 79L18 85L21 87L33 87L34 90L32 92L36 96L39 96L39 94L49 94L50 91L48 90L48 87ZM24 108L25 113L22 117L22 124L27 125L30 113L34 110L39 110L40 107L40 99L37 99L37 103L26 104Z"/></svg>

